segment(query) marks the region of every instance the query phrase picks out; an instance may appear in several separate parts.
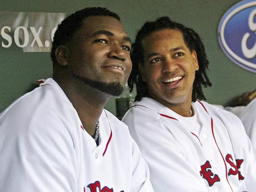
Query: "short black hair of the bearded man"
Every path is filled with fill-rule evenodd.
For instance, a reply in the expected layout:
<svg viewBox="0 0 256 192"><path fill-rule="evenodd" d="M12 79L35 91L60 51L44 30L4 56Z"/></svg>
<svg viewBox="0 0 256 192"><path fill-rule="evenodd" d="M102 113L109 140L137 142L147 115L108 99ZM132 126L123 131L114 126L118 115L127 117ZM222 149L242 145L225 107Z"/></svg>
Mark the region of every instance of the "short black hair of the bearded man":
<svg viewBox="0 0 256 192"><path fill-rule="evenodd" d="M57 63L55 58L56 48L59 45L66 45L74 33L82 27L84 19L89 16L110 16L120 21L120 17L116 13L102 7L87 7L68 16L58 25L53 37L51 50L53 66Z"/></svg>

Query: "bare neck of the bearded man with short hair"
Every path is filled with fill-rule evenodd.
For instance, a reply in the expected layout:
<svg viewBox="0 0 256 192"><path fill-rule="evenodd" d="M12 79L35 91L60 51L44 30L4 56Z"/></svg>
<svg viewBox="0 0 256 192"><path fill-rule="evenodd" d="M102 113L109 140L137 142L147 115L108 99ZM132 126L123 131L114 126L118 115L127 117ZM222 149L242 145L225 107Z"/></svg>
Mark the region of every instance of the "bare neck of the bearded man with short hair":
<svg viewBox="0 0 256 192"><path fill-rule="evenodd" d="M78 80L54 78L67 95L82 122L84 129L93 135L103 108L112 97L78 82Z"/></svg>

